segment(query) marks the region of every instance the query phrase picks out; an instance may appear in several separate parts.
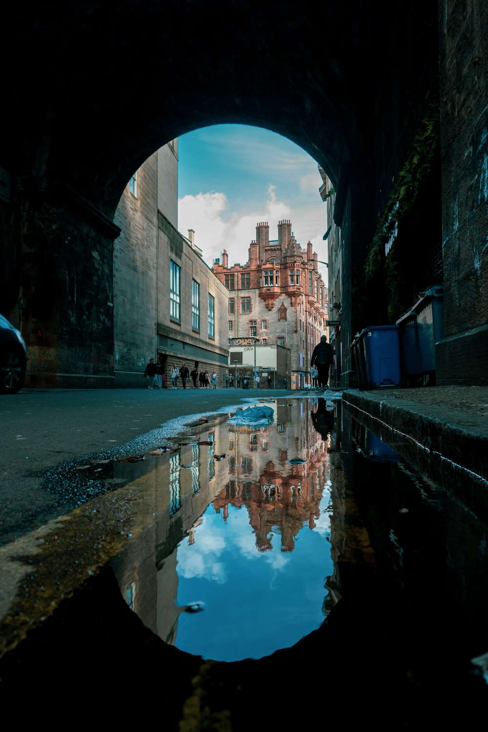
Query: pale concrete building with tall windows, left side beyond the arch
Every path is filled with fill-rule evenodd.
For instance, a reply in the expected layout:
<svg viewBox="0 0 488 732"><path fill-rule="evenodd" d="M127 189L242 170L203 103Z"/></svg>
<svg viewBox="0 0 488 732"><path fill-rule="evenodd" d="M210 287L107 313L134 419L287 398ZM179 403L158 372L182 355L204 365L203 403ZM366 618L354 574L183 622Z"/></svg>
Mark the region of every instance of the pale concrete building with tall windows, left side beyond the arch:
<svg viewBox="0 0 488 732"><path fill-rule="evenodd" d="M136 171L116 210L114 372L116 386L143 386L161 355L166 381L173 363L189 370L228 367L228 291L201 257L193 232L178 231L178 141Z"/></svg>

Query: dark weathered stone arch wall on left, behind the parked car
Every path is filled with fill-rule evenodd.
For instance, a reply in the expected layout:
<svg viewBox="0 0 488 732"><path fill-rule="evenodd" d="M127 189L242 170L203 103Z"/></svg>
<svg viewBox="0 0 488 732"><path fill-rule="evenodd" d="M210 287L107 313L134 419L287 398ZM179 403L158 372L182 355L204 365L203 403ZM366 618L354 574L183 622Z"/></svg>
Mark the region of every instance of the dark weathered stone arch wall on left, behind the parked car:
<svg viewBox="0 0 488 732"><path fill-rule="evenodd" d="M26 386L113 386L113 223L69 190L25 195L19 295Z"/></svg>

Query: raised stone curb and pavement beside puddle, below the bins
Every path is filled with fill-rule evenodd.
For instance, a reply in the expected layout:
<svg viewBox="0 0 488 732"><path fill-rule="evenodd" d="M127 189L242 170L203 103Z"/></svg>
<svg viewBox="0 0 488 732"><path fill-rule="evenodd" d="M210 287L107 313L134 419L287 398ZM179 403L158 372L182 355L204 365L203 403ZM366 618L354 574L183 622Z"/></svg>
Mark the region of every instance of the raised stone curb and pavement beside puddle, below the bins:
<svg viewBox="0 0 488 732"><path fill-rule="evenodd" d="M486 417L353 389L343 392L342 401L410 437L432 454L438 453L488 480Z"/></svg>

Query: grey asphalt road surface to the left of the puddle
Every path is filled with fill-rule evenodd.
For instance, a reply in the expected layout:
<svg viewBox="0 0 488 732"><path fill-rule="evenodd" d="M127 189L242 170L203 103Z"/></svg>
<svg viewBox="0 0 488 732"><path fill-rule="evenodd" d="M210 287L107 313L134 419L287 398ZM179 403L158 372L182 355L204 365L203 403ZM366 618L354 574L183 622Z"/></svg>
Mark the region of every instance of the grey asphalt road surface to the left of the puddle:
<svg viewBox="0 0 488 732"><path fill-rule="evenodd" d="M0 395L0 545L67 512L45 489L45 471L86 455L157 447L213 411L292 392L269 389L27 390ZM244 401L243 401L244 400ZM177 422L173 422L177 420ZM143 437L141 437L143 436Z"/></svg>

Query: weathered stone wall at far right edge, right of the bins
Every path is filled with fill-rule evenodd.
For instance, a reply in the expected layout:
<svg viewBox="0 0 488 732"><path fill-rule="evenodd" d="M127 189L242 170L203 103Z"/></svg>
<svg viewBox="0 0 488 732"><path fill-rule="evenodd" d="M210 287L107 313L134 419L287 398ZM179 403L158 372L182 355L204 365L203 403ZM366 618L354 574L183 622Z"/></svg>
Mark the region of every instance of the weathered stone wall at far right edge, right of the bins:
<svg viewBox="0 0 488 732"><path fill-rule="evenodd" d="M444 338L438 384L488 383L488 6L440 7Z"/></svg>

